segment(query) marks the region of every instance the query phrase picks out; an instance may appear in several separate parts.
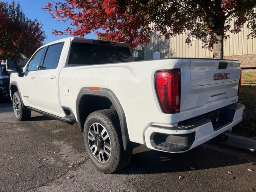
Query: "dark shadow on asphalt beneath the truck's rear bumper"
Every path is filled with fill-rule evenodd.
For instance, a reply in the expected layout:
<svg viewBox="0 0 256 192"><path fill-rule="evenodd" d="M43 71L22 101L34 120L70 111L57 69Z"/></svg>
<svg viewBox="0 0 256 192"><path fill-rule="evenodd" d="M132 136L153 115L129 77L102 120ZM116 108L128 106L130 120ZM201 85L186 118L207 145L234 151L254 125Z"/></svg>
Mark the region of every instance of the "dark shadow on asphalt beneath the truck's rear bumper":
<svg viewBox="0 0 256 192"><path fill-rule="evenodd" d="M146 148L140 146L140 148ZM130 164L116 174L162 174L172 172L186 172L207 170L210 168L228 167L244 164L246 160L234 157L224 152L198 146L188 152L171 154L154 150L142 149L132 155ZM228 169L228 168L227 168Z"/></svg>

